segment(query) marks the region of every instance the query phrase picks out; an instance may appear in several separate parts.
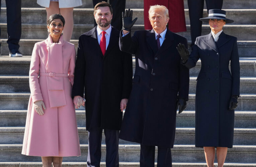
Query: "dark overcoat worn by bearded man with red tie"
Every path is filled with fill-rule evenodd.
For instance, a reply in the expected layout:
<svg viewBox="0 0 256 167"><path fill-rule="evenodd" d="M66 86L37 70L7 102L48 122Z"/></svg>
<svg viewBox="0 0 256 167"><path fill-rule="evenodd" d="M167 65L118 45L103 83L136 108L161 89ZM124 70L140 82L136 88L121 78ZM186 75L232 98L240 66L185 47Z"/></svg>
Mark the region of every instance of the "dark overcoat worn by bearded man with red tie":
<svg viewBox="0 0 256 167"><path fill-rule="evenodd" d="M86 130L120 130L120 102L132 89L132 55L119 49L119 31L112 27L103 56L96 28L79 37L72 96L85 95Z"/></svg>

